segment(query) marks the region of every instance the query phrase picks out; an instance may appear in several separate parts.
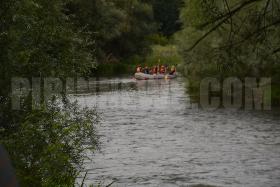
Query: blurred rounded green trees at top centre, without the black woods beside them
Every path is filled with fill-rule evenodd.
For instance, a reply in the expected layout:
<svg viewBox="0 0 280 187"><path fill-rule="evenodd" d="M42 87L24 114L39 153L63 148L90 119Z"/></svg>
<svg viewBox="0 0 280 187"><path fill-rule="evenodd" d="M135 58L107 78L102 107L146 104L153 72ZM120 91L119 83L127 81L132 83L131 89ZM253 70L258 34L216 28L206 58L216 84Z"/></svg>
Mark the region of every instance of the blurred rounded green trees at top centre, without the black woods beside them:
<svg viewBox="0 0 280 187"><path fill-rule="evenodd" d="M87 25L87 31L93 31L91 49L96 49L98 63L145 56L151 51L148 36L156 31L151 5L140 0L86 0L68 3L68 8L75 26Z"/></svg>

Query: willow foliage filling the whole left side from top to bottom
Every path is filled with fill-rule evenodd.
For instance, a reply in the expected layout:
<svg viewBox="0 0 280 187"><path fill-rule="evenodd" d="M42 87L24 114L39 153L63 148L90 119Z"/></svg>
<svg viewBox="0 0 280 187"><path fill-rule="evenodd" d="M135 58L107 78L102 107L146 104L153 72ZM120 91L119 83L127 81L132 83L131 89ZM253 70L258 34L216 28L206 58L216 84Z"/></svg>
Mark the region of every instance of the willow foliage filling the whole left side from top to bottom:
<svg viewBox="0 0 280 187"><path fill-rule="evenodd" d="M21 186L72 185L86 158L100 150L94 108L64 97L63 107L32 109L31 92L12 110L12 78L77 78L89 75L88 32L72 31L62 0L2 0L0 3L0 135ZM39 79L36 79L39 80ZM39 88L40 88L39 81ZM44 101L41 84L41 98ZM32 89L32 92L35 89ZM62 93L63 94L63 93ZM84 147L85 142L89 142Z"/></svg>

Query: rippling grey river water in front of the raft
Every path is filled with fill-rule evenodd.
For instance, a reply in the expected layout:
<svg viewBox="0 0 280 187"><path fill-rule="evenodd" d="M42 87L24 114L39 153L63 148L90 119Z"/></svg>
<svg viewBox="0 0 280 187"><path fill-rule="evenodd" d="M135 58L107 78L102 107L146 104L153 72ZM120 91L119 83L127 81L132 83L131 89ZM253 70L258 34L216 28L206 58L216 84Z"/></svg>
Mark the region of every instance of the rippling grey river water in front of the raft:
<svg viewBox="0 0 280 187"><path fill-rule="evenodd" d="M180 80L97 80L97 93L77 99L98 106L104 155L88 154L95 163L85 161L78 183L88 171L87 186L280 186L278 107L209 111L190 103Z"/></svg>

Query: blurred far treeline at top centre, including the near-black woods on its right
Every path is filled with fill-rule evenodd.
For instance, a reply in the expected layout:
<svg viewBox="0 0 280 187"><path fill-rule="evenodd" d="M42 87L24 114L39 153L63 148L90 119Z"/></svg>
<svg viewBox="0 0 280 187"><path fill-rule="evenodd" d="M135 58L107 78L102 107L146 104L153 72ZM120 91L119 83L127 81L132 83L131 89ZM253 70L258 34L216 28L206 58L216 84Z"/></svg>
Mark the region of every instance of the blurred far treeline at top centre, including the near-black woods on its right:
<svg viewBox="0 0 280 187"><path fill-rule="evenodd" d="M87 25L95 41L95 62L125 61L152 52L151 41L162 35L163 45L180 30L180 0L85 0L67 4L72 27ZM161 39L162 39L161 38ZM160 39L159 39L160 40Z"/></svg>

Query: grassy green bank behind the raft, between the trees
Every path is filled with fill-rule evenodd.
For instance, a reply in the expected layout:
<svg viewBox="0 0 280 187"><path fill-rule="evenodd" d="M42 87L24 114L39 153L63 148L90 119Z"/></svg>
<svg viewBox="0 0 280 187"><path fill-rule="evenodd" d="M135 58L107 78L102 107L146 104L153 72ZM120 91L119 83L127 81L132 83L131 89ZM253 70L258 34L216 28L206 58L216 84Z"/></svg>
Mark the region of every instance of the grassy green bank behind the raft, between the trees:
<svg viewBox="0 0 280 187"><path fill-rule="evenodd" d="M119 73L126 71L133 71L141 64L142 67L148 66L150 70L155 65L158 65L158 59L161 59L160 65L171 66L175 63L180 63L180 56L177 55L176 46L152 46L152 53L147 57L134 56L125 61L120 61L112 64L99 64L96 69L93 69L94 74L110 74L110 73ZM172 55L171 55L172 54Z"/></svg>

